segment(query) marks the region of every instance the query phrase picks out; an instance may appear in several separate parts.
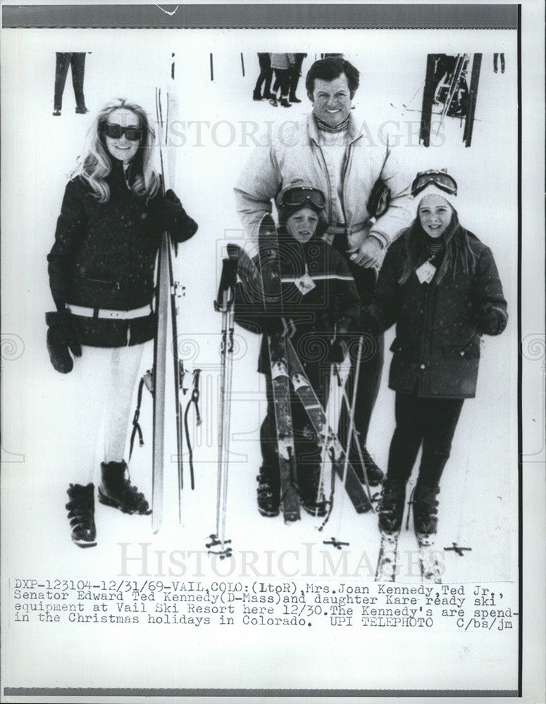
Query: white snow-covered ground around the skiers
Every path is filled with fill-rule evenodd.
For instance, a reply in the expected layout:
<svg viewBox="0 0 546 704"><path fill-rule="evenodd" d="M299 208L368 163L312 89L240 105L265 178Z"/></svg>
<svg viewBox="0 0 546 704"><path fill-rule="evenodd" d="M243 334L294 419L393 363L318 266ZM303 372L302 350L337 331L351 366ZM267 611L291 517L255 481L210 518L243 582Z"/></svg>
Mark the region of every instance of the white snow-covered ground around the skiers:
<svg viewBox="0 0 546 704"><path fill-rule="evenodd" d="M225 36L224 36L225 34ZM204 574L253 577L249 562L263 577L337 577L373 579L379 535L372 513L356 516L340 491L324 532L308 515L290 527L282 519L267 520L256 510L256 474L260 464L259 425L265 413L264 381L256 373L258 339L236 330L233 365L232 442L227 508L227 536L232 561L212 560L190 551L204 551L206 537L216 527L217 404L220 315L213 310L221 256L228 241L244 240L235 213L232 186L252 151L248 137L264 132L271 120L294 120L311 109L304 76L321 51L345 51L361 70L361 87L354 103L359 114L375 122L393 120L399 131L404 158L417 172L447 167L459 182L461 222L487 243L495 255L509 304L509 327L482 349L478 393L467 401L455 435L452 457L442 478L437 546L457 543L469 547L464 557L444 553L444 582L503 582L517 578L517 200L516 200L516 61L515 36L497 32L495 39L471 32L438 37L432 45L400 42L395 32L366 34L345 31L342 46L332 46L331 35L300 34L293 50L306 51L298 95L302 103L273 108L252 101L258 74L256 51L275 48L275 32L259 40L256 33L147 32L132 42L130 33L71 33L78 51L89 51L85 73L88 115L75 115L68 77L61 117L53 117L54 51L71 50L54 30L28 30L13 38L4 32L2 106L2 336L13 339L15 352L3 355L2 411L2 534L4 564L11 574L70 578L155 577ZM278 36L278 35L277 35ZM295 35L294 35L295 36ZM429 35L430 36L430 35ZM284 33L290 38L290 32ZM261 42L261 43L260 43ZM7 46L6 46L7 45ZM25 61L15 64L18 56ZM506 73L492 71L492 52L506 55ZM213 81L209 54L213 52ZM240 51L244 57L242 75ZM483 51L473 144L465 149L459 120L447 118L436 146L418 146L418 111L428 52L455 54ZM174 54L174 57L172 56ZM46 253L54 239L66 176L75 165L85 130L104 102L130 96L154 110L154 86L167 84L175 61L175 84L180 92L176 192L188 213L199 222L199 232L180 249L180 275L186 287L182 299L181 351L187 366L201 373L203 424L193 432L196 489L190 491L185 462L183 526L178 525L175 453L175 417L166 425L166 479L164 524L151 534L149 517L128 517L97 504L98 546L82 551L70 541L66 519L66 488L76 481L89 458L78 451L85 428L71 423L74 403L85 403L85 389L75 389L70 375L51 368L45 346L44 312L51 309L46 275ZM404 108L403 105L407 108ZM191 123L193 121L193 124ZM200 122L201 137L198 136ZM246 122L246 124L245 124ZM244 137L244 135L247 137ZM7 336L7 337L6 337ZM10 336L12 336L10 338ZM392 331L386 336L386 348ZM142 371L151 365L151 344ZM394 393L387 389L390 353L376 404L368 448L385 467L394 427ZM170 365L168 370L170 371ZM172 384L168 389L172 391ZM184 397L187 401L189 394ZM170 401L170 403L169 403ZM168 400L173 409L173 399ZM190 412L190 419L192 417ZM135 450L132 481L151 498L151 398L144 396L141 425L146 444ZM187 459L187 458L185 458ZM96 465L99 481L97 451ZM414 473L415 474L415 473ZM414 477L415 478L415 477ZM6 540L6 536L8 536ZM324 546L335 536L350 543L343 553ZM125 546L125 547L124 547ZM125 551L125 552L124 552ZM159 558L159 553L162 557ZM173 551L185 551L182 559ZM242 551L247 551L242 554ZM290 553L289 551L293 551ZM411 529L399 540L400 580L418 582L416 541ZM31 557L30 557L31 556ZM162 562L159 562L159 560ZM185 572L173 560L184 562ZM345 562L343 562L345 560ZM412 561L413 567L407 567ZM247 565L245 567L244 565ZM345 572L343 572L345 570ZM276 636L275 636L276 637ZM220 650L218 651L220 652ZM150 666L152 667L152 666Z"/></svg>

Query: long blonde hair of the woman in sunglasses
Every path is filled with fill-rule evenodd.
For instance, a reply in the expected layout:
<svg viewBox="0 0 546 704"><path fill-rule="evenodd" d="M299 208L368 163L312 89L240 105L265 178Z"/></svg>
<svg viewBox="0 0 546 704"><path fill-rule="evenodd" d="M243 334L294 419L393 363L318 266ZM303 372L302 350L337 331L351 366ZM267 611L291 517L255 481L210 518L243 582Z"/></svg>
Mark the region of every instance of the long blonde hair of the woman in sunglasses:
<svg viewBox="0 0 546 704"><path fill-rule="evenodd" d="M112 170L112 158L104 141L104 125L108 115L120 108L135 113L139 119L139 128L142 130L139 149L132 160L131 170L135 173L135 178L130 188L137 195L146 198L154 196L159 189L159 176L152 164L151 150L156 136L154 128L143 108L137 103L118 98L107 103L93 120L87 131L84 151L77 160L77 167L70 174L72 178L80 176L85 179L99 203L106 203L110 199L110 188L106 177Z"/></svg>

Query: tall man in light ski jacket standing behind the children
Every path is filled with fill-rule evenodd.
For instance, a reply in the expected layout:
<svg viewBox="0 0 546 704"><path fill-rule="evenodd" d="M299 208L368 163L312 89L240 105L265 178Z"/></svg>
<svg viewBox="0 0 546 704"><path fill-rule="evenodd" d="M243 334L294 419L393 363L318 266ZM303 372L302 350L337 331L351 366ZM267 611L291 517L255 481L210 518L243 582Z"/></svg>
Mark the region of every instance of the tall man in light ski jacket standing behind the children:
<svg viewBox="0 0 546 704"><path fill-rule="evenodd" d="M313 112L301 122L283 123L268 135L266 144L256 146L237 182L235 197L244 229L256 241L263 214L271 213L272 201L283 188L302 180L321 189L329 222L325 237L347 259L366 306L385 250L411 222L411 176L399 167L394 152L397 138L371 129L351 114L358 86L359 71L349 61L340 57L316 61L306 77ZM371 205L370 196L378 182L390 191L390 201L375 220L376 203ZM379 390L383 337L366 347L355 413L361 444L366 442ZM366 470L371 484L378 484L383 472L363 449L364 467L356 451L350 453L351 461L357 472L361 467L363 480Z"/></svg>

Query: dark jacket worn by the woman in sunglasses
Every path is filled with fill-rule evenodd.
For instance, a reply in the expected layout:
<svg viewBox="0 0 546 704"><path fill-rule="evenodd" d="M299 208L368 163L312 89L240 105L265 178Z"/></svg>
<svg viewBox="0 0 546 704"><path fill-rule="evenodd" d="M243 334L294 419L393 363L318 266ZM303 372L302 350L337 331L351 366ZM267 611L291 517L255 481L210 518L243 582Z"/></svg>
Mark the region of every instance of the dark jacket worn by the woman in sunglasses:
<svg viewBox="0 0 546 704"><path fill-rule="evenodd" d="M132 182L130 173L128 179ZM120 161L113 160L106 182L110 188L106 203L97 201L81 177L66 184L48 256L49 284L58 308L64 303L106 310L149 305L163 230L176 242L197 231L176 196L165 203L161 189L149 199L131 191ZM75 315L75 324L80 342L92 346L139 344L155 334L152 313L133 320Z"/></svg>

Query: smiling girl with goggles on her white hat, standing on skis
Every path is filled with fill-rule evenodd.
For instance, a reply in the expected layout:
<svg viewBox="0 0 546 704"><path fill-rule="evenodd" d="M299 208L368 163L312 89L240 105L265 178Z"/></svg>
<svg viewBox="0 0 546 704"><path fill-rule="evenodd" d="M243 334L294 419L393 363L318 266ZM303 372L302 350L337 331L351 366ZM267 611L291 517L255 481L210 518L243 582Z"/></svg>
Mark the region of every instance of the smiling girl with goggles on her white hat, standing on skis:
<svg viewBox="0 0 546 704"><path fill-rule="evenodd" d="M488 246L459 222L457 184L442 171L418 174L417 217L385 256L361 322L371 334L396 325L389 387L396 391L379 527L397 534L406 484L422 447L414 528L432 541L440 477L465 398L476 394L480 336L507 325L507 302Z"/></svg>

